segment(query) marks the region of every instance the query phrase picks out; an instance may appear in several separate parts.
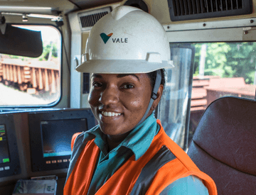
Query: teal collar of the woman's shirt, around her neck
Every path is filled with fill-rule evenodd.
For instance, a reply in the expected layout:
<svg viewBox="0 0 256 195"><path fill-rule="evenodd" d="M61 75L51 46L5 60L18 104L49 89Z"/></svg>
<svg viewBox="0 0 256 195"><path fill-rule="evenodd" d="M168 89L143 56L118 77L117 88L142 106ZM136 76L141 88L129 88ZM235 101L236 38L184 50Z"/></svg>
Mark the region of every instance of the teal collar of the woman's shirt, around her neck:
<svg viewBox="0 0 256 195"><path fill-rule="evenodd" d="M131 130L122 143L110 151L109 155L111 155L111 153L116 154L116 151L119 150L120 147L127 147L134 153L135 160L138 160L151 145L157 131L156 118L154 118L154 114L152 113L139 126ZM95 138L94 142L100 147L103 154L107 155L107 136L102 133L99 126L95 126L85 132L84 142L92 140L93 138Z"/></svg>

